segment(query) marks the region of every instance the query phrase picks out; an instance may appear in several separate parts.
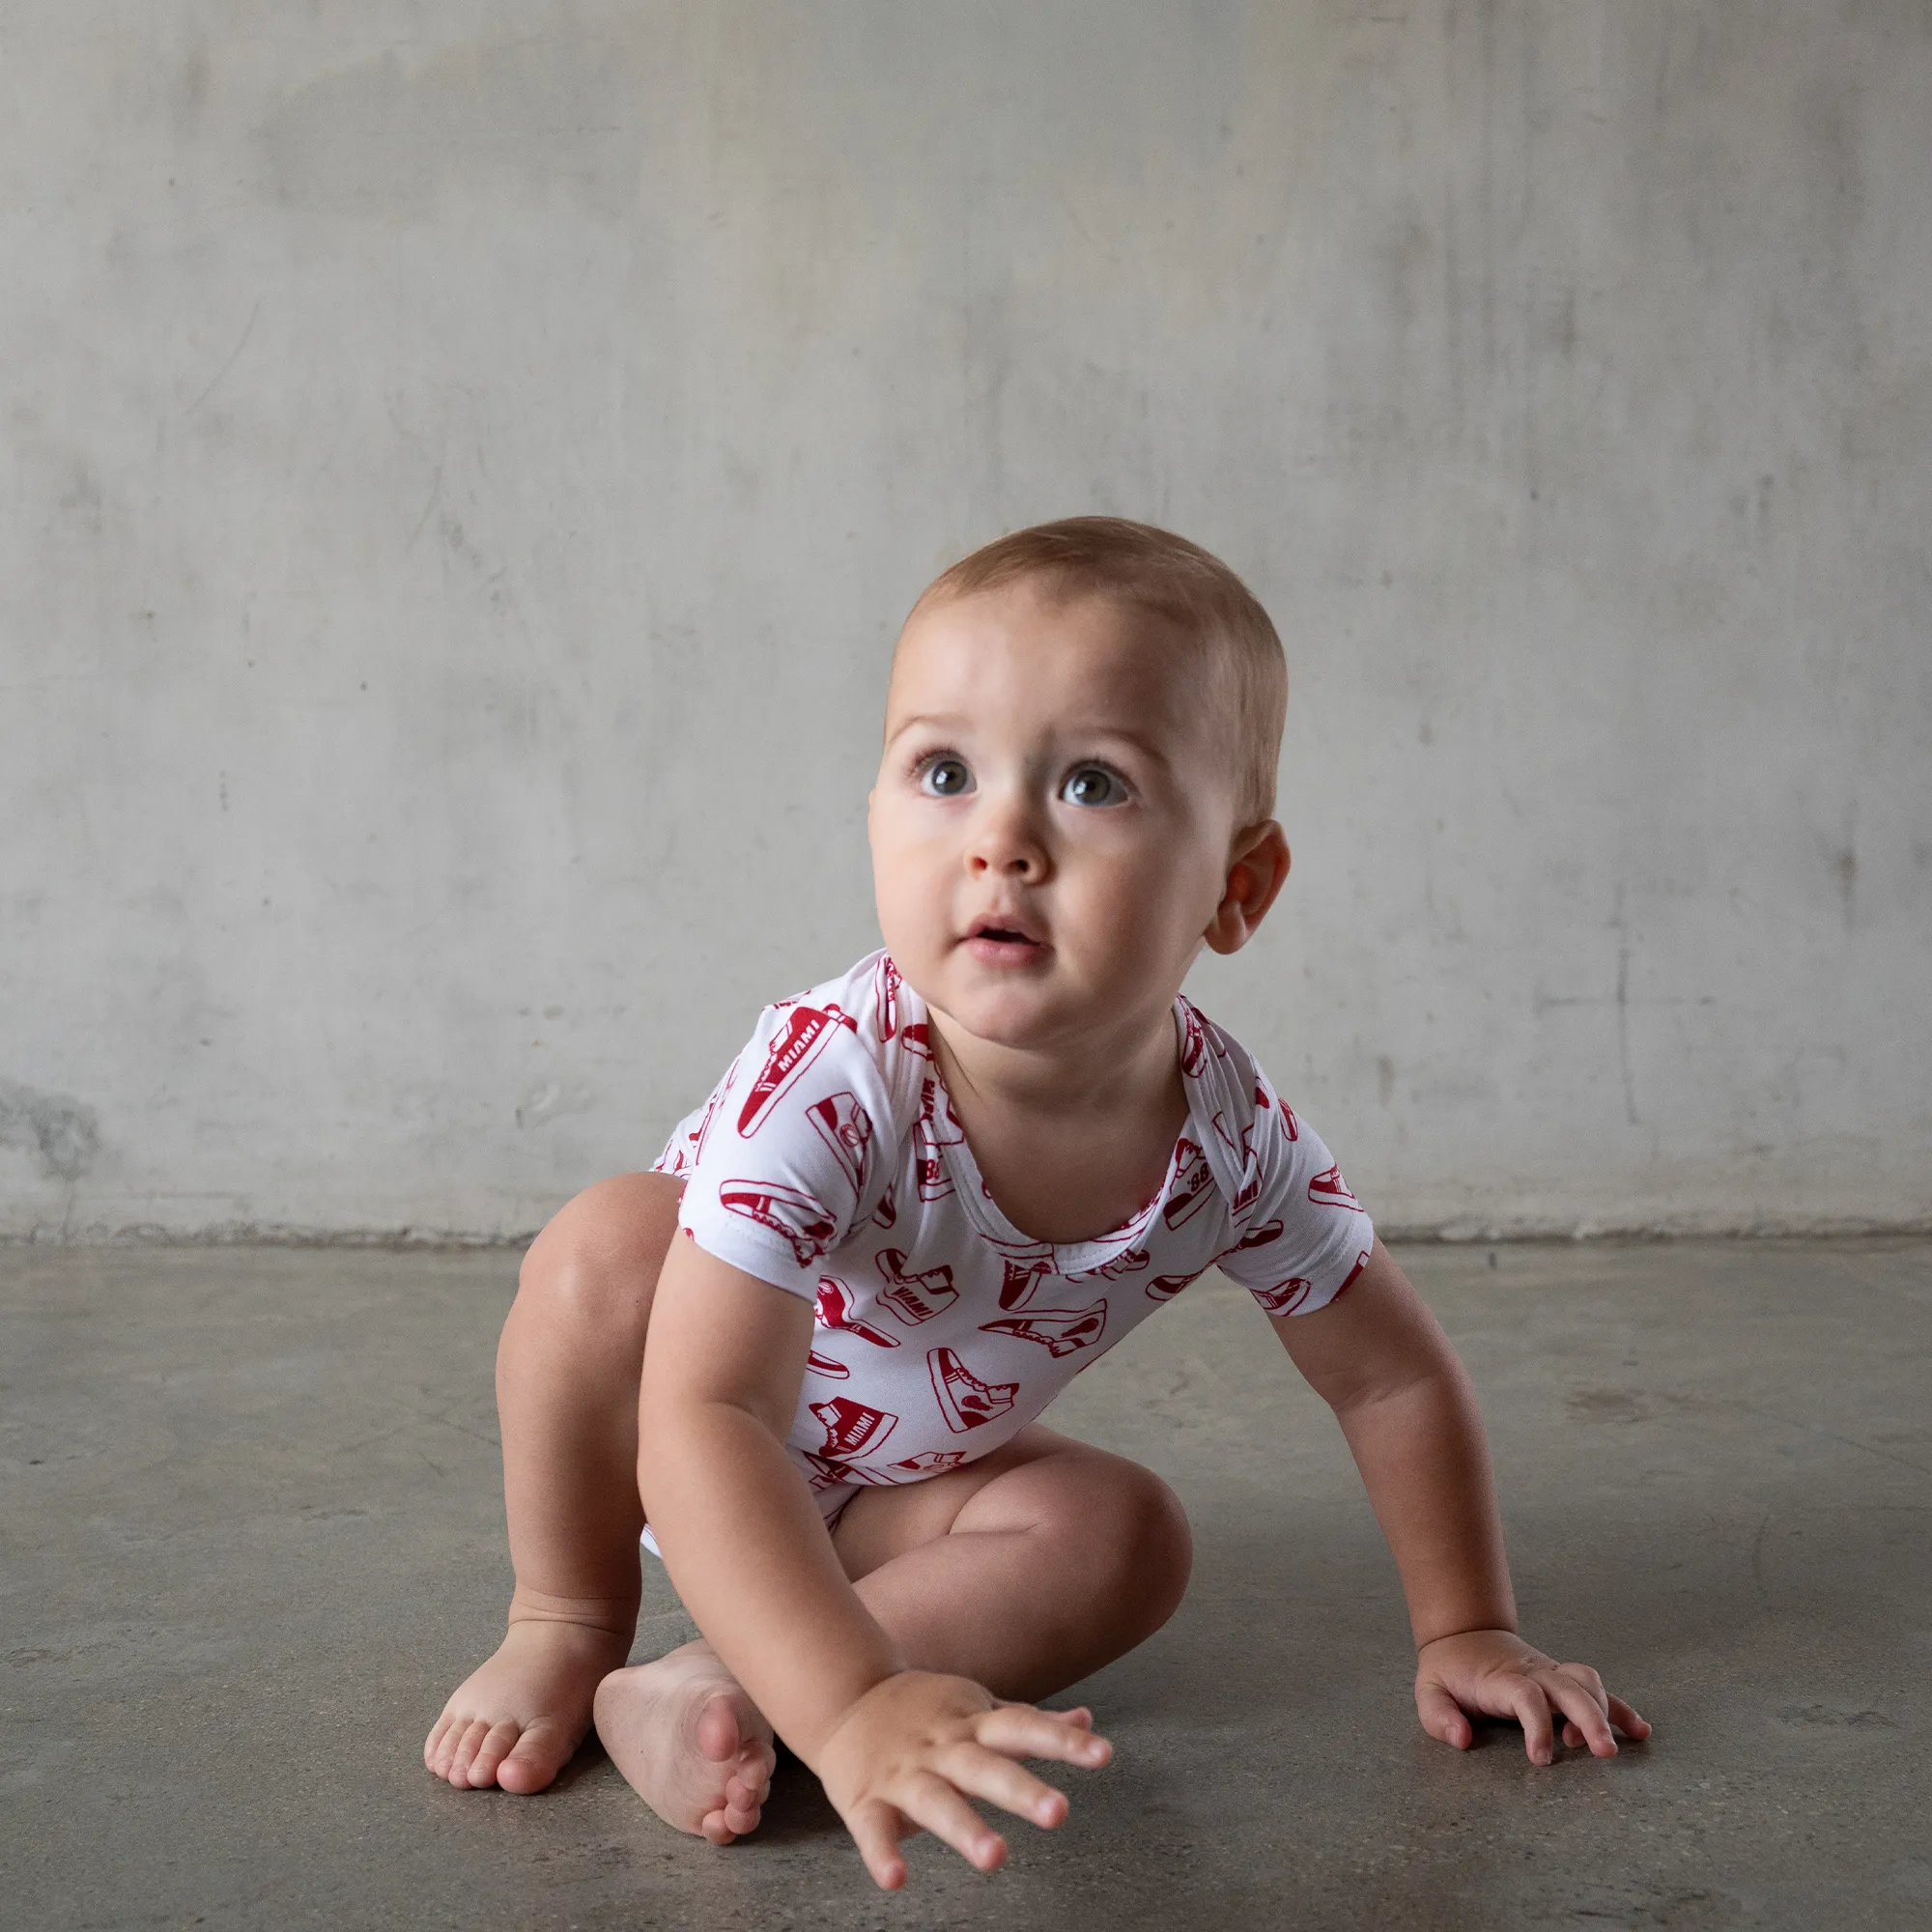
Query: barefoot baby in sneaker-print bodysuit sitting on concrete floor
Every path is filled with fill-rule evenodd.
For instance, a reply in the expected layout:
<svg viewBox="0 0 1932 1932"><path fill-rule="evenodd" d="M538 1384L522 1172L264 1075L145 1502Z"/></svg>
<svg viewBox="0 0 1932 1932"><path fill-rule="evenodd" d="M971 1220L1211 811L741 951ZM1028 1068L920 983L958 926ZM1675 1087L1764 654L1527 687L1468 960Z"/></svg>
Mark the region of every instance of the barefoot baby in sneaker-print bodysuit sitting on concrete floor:
<svg viewBox="0 0 1932 1932"><path fill-rule="evenodd" d="M1424 1729L1548 1764L1650 1725L1517 1636L1476 1403L1314 1128L1180 997L1289 871L1281 643L1225 564L1074 518L954 564L898 639L871 858L885 951L769 1007L649 1175L537 1236L497 1358L516 1594L423 1758L541 1791L595 1721L668 1824L759 1820L775 1735L877 1884L1022 1764L1034 1700L1157 1631L1167 1486L1037 1418L1208 1267L1341 1420L1401 1569ZM680 1238L682 1236L682 1238ZM649 1331L649 1347L645 1333ZM645 1522L645 1519L649 1519ZM626 1669L639 1536L703 1636Z"/></svg>

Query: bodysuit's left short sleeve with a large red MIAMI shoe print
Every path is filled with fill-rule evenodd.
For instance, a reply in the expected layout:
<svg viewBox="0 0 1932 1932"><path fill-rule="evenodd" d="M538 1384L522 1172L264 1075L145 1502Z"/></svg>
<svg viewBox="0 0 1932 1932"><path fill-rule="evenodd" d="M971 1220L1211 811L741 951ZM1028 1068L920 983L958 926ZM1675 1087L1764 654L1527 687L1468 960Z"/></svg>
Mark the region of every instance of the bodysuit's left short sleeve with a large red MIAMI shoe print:
<svg viewBox="0 0 1932 1932"><path fill-rule="evenodd" d="M860 1018L808 993L757 1032L659 1161L682 1173L678 1225L699 1248L806 1298L883 1186L891 1101ZM674 1165L672 1165L674 1163Z"/></svg>

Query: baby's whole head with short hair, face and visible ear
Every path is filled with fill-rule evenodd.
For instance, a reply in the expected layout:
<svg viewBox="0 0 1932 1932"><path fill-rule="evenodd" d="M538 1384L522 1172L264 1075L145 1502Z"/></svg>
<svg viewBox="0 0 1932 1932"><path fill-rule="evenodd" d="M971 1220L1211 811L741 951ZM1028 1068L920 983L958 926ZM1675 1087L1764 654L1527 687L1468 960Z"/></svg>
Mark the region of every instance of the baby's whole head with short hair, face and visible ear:
<svg viewBox="0 0 1932 1932"><path fill-rule="evenodd" d="M871 794L900 970L1009 1045L1157 1022L1287 875L1285 703L1267 612L1167 531L1070 518L954 564L900 634Z"/></svg>

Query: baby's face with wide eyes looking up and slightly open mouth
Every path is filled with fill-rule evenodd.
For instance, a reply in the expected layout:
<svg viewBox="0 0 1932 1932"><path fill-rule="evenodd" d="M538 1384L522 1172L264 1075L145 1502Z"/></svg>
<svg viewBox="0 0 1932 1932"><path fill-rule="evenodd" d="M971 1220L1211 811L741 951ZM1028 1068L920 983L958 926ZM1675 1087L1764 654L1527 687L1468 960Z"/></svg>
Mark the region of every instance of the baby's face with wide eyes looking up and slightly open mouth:
<svg viewBox="0 0 1932 1932"><path fill-rule="evenodd" d="M914 616L871 794L879 925L970 1034L1051 1049L1165 1016L1221 902L1231 732L1198 653L1020 582Z"/></svg>

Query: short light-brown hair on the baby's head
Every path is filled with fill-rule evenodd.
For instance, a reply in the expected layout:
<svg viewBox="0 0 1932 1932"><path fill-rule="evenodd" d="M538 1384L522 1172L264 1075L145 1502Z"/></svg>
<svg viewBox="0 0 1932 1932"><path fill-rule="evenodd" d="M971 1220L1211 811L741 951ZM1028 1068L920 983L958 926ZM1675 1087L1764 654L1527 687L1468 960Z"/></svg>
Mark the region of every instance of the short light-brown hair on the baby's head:
<svg viewBox="0 0 1932 1932"><path fill-rule="evenodd" d="M1275 763L1289 705L1289 665L1267 612L1219 556L1171 529L1122 516L1068 516L1034 524L962 556L912 607L1037 582L1057 597L1117 597L1167 624L1192 649L1211 653L1223 676L1242 825L1275 810ZM908 618L910 622L910 618Z"/></svg>

